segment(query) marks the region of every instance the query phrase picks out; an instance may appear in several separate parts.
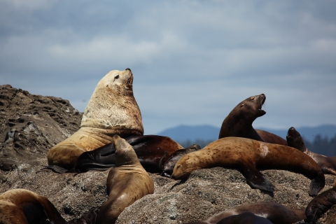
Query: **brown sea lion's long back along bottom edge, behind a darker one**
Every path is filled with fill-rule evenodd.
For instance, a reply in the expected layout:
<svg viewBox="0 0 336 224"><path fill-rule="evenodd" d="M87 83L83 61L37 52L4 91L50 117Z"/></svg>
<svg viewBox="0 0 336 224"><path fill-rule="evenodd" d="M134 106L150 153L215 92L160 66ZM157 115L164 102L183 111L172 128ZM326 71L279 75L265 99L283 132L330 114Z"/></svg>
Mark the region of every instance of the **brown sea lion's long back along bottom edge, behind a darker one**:
<svg viewBox="0 0 336 224"><path fill-rule="evenodd" d="M290 209L276 202L256 202L243 204L239 207L225 210L218 214L214 214L214 216L210 216L204 221L195 222L193 224L214 224L218 223L218 221L221 221L225 217L243 214L244 212L250 212L256 216L267 218L274 224L297 223L298 221L302 221L306 218L304 209Z"/></svg>

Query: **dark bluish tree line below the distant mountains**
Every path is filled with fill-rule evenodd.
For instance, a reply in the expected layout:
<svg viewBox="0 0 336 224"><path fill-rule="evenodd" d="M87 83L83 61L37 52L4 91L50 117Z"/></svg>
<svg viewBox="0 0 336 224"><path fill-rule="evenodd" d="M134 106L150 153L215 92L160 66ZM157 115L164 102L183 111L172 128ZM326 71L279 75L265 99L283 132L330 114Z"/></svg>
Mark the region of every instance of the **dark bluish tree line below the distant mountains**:
<svg viewBox="0 0 336 224"><path fill-rule="evenodd" d="M201 148L204 148L207 146L207 144L213 141L215 140L196 139L195 141L181 141L179 144L181 144L181 146L184 148L188 148L193 144L197 144L201 146ZM336 134L330 139L328 137L323 138L321 137L321 134L317 134L314 141L311 142L307 139L304 139L304 143L306 144L306 147L309 149L309 151L326 156L336 156Z"/></svg>

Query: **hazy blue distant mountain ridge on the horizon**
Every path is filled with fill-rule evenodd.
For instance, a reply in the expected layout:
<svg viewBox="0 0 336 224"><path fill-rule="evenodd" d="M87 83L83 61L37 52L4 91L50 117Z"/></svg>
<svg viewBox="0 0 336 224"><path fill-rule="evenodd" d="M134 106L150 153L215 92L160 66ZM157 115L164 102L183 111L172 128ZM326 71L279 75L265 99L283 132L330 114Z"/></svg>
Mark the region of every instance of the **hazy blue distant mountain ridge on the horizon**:
<svg viewBox="0 0 336 224"><path fill-rule="evenodd" d="M289 129L290 127L288 127ZM272 130L265 127L255 127L255 129L265 130L277 134L283 139L286 139L287 130ZM302 137L308 141L314 141L316 135L321 137L328 137L328 139L335 137L336 125L318 125L316 127L295 127L300 132ZM179 125L177 127L168 128L159 132L159 135L167 136L175 141L195 141L195 140L216 140L218 139L220 127L211 125Z"/></svg>

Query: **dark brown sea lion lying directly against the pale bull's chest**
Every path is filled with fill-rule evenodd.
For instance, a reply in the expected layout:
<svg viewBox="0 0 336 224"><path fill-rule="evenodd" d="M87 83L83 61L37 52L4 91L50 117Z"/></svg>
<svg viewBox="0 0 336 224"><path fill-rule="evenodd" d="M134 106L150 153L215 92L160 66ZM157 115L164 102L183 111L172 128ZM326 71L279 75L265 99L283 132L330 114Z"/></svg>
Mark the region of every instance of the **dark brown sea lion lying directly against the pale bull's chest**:
<svg viewBox="0 0 336 224"><path fill-rule="evenodd" d="M147 172L158 173L160 162L167 159L162 158L165 152L168 156L183 148L180 144L169 137L160 135L137 135L127 137L125 140L133 147L138 159ZM107 170L116 165L116 148L113 143L106 144L93 151L80 154L73 169L64 169L56 165L45 168L52 169L57 173L83 173L89 170ZM173 167L174 168L174 167Z"/></svg>

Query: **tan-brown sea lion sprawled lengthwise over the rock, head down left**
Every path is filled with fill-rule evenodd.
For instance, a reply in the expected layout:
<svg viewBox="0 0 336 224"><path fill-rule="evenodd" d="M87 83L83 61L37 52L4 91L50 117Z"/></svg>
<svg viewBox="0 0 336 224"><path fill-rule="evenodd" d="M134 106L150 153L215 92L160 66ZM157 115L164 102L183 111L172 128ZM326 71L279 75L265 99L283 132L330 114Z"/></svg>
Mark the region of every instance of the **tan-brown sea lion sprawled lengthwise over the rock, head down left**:
<svg viewBox="0 0 336 224"><path fill-rule="evenodd" d="M324 174L308 155L278 144L253 139L226 137L199 151L188 153L176 163L172 177L186 179L195 169L227 167L237 169L251 188L274 191L274 186L258 169L284 169L311 179L309 195L317 195L325 185Z"/></svg>

